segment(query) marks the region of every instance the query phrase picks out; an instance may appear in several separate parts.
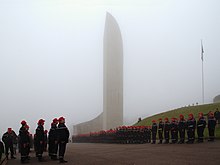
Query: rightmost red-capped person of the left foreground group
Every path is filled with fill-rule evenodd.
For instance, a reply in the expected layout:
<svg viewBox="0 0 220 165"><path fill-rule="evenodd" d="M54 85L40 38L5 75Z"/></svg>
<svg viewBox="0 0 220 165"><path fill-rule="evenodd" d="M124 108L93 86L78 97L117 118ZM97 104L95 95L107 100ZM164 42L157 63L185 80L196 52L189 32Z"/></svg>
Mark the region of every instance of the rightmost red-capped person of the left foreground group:
<svg viewBox="0 0 220 165"><path fill-rule="evenodd" d="M64 160L64 154L66 150L66 144L69 141L69 130L65 125L64 117L59 118L57 135L58 135L58 146L59 146L59 160L60 163L66 163L67 161Z"/></svg>

